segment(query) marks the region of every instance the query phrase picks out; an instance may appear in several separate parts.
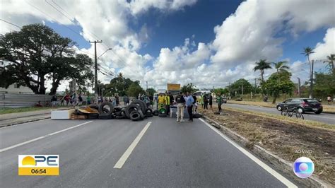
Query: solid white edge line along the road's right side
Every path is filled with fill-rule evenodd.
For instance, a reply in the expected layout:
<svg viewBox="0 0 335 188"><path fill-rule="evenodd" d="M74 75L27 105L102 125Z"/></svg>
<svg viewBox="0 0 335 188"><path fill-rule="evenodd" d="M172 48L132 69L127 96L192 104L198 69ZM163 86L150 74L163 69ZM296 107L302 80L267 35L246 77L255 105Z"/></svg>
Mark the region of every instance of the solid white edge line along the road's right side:
<svg viewBox="0 0 335 188"><path fill-rule="evenodd" d="M242 148L241 146L239 146L237 143L235 143L235 141L229 139L221 131L218 131L218 129L214 128L213 126L211 126L210 124L208 124L207 122L205 122L204 119L200 119L200 120L201 120L201 122L204 122L204 124L206 124L213 131L216 131L216 133L219 134L221 137L223 137L223 139L225 139L226 141L228 141L229 143L231 143L233 146L235 146L235 148L237 148L243 154L247 155L247 157L250 158L251 160L253 160L254 163L257 163L257 165L261 166L261 168L264 168L264 170L266 170L271 175L273 175L274 177L276 177L279 181L281 181L287 187L298 187L295 184L293 184L293 182L290 182L290 180L286 179L286 177L283 177L278 172L276 172L276 170L270 168L268 165L266 165L261 160L259 160L258 158L256 158L254 155L252 155L252 153L249 153L249 151L245 150L245 148Z"/></svg>

